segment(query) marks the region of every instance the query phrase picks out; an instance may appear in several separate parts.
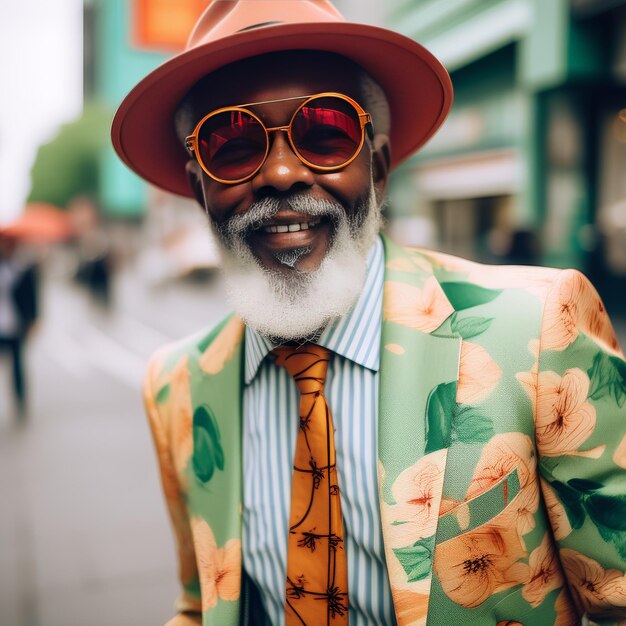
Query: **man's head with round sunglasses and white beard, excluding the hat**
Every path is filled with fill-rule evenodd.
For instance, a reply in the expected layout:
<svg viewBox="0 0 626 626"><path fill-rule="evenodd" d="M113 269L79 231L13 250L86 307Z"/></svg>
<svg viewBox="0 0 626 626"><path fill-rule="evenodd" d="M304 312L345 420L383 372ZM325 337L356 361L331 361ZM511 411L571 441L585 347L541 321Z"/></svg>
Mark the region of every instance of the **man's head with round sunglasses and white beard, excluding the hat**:
<svg viewBox="0 0 626 626"><path fill-rule="evenodd" d="M367 133L374 138L358 104L369 104L366 93L369 110L382 111L363 149ZM246 113L224 110L240 100ZM222 244L231 303L256 331L306 338L356 301L380 226L388 119L361 68L297 50L229 65L178 108L181 140L195 127L187 172Z"/></svg>

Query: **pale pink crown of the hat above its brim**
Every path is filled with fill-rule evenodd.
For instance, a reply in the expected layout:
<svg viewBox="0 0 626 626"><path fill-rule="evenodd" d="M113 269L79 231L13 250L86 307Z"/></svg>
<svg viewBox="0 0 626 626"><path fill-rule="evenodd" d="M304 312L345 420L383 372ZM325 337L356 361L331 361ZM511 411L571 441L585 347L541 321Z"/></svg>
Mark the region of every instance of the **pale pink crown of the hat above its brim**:
<svg viewBox="0 0 626 626"><path fill-rule="evenodd" d="M307 22L345 22L345 18L328 0L212 0L185 49L273 24Z"/></svg>

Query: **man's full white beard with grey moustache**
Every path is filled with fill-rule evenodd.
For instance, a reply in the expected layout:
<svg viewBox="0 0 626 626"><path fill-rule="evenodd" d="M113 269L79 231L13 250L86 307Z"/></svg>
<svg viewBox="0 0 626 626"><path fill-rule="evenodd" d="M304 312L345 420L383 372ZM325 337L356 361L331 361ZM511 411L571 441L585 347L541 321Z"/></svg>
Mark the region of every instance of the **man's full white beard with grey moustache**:
<svg viewBox="0 0 626 626"><path fill-rule="evenodd" d="M295 211L332 214L333 220L337 220L330 249L317 270L270 271L252 254L245 229L250 224L258 227L262 219L278 210L279 204L272 199L255 203L248 212L250 216L243 216L243 225L234 225L230 232L220 228L217 239L227 298L237 315L266 337L303 340L345 315L358 299L367 273L367 256L380 229L381 214L373 184L367 201L357 208L357 215L365 212L358 215L359 223L354 220L351 223L339 204L316 201L304 194L294 195L287 202ZM295 265L301 254L296 252ZM293 259L282 262L293 267Z"/></svg>

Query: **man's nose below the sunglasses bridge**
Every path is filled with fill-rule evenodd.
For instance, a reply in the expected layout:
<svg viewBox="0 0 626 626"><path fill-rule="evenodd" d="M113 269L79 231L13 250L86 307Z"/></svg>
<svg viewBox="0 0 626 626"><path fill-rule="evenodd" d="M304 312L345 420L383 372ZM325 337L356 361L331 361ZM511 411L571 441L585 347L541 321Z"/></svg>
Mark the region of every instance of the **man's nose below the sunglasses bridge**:
<svg viewBox="0 0 626 626"><path fill-rule="evenodd" d="M292 150L287 133L277 130L271 133L270 141L267 159L252 179L253 190L260 192L268 189L285 192L296 185L312 186L313 172Z"/></svg>

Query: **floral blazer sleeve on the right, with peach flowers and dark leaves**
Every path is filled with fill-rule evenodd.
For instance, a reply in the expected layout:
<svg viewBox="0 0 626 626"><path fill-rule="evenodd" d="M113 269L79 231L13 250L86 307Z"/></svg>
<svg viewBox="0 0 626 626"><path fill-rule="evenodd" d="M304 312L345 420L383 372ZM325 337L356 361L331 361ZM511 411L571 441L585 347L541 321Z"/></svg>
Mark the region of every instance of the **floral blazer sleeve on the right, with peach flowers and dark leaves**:
<svg viewBox="0 0 626 626"><path fill-rule="evenodd" d="M563 571L581 615L626 618L626 362L591 283L560 272L546 299L535 433Z"/></svg>

